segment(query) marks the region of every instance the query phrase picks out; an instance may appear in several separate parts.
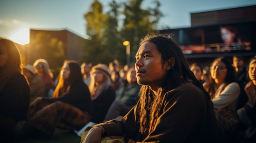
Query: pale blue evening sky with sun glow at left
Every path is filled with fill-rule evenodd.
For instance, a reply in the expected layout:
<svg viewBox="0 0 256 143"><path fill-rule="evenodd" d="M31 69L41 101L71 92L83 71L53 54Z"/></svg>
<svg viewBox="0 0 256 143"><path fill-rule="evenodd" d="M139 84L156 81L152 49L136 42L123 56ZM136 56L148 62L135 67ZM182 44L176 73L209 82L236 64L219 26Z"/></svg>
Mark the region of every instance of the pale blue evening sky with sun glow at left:
<svg viewBox="0 0 256 143"><path fill-rule="evenodd" d="M116 0L128 2L129 0ZM144 0L141 7L153 7L154 0ZM255 5L256 0L158 0L164 17L159 21L162 27L170 29L191 26L191 13L230 9ZM30 29L66 29L85 39L86 21L83 15L88 12L93 0L0 0L0 37L18 44L29 43ZM108 11L112 0L99 0Z"/></svg>

